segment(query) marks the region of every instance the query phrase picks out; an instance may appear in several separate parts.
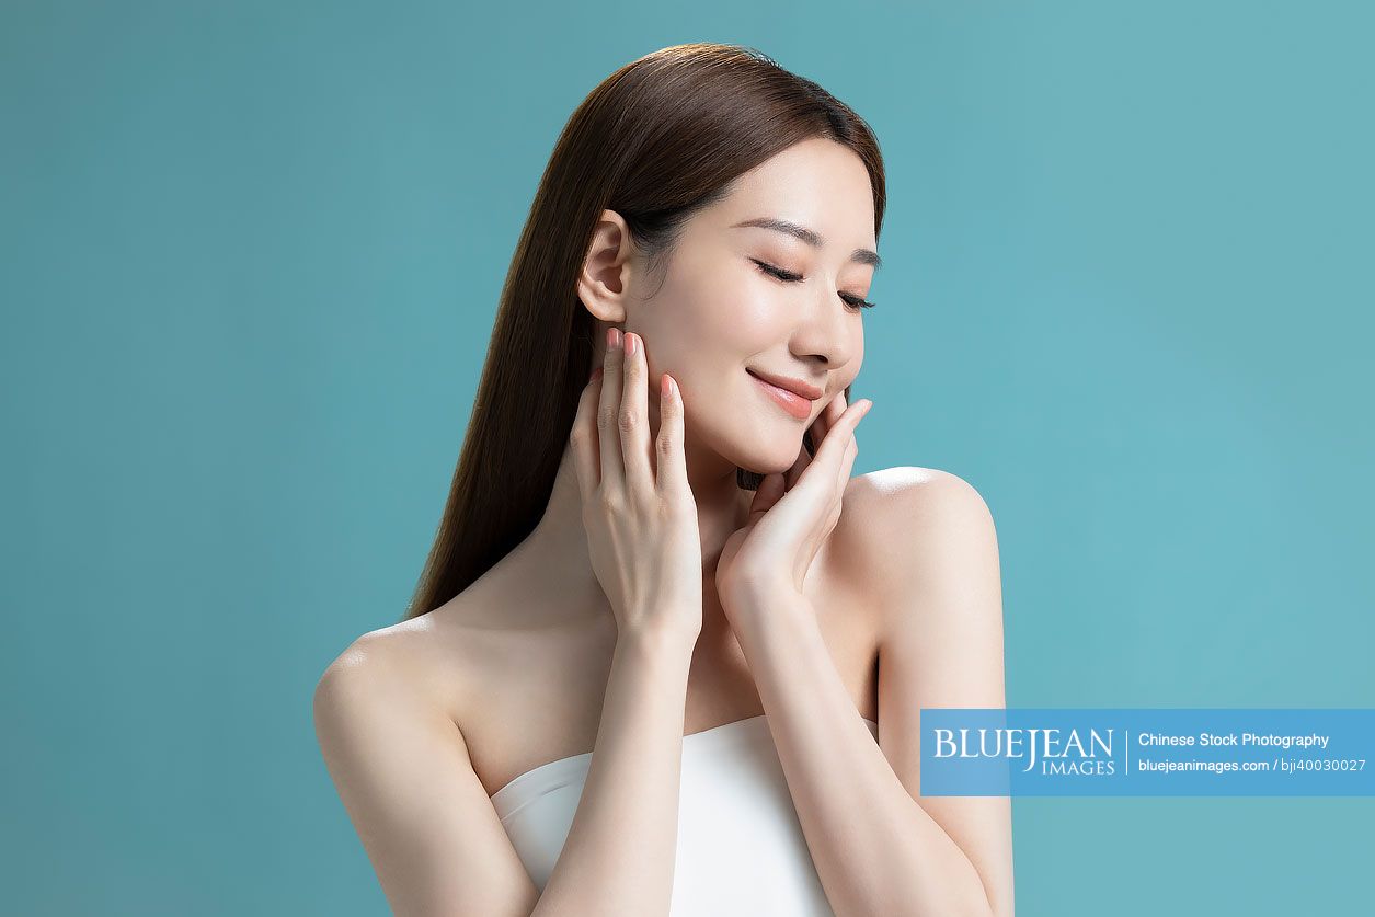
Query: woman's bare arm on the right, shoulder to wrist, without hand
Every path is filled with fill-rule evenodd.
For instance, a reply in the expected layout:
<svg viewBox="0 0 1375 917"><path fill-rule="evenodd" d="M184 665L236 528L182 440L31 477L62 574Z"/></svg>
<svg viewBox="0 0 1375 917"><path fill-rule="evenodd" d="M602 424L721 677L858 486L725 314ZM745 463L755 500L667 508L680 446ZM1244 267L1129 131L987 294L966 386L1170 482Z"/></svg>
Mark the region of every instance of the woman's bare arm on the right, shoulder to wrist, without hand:
<svg viewBox="0 0 1375 917"><path fill-rule="evenodd" d="M920 708L1004 705L991 517L945 473L846 502L851 527L865 527L843 535L847 550L884 595L880 744L803 597L780 588L732 616L826 898L839 917L1009 917L1009 800L918 793Z"/></svg>

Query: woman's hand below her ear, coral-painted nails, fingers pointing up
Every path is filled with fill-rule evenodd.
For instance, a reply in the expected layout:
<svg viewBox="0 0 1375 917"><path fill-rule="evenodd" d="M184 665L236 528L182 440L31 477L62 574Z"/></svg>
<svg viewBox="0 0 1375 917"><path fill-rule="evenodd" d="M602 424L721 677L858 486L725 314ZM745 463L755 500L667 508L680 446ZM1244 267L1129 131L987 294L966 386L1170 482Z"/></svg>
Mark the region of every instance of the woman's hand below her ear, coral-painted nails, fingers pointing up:
<svg viewBox="0 0 1375 917"><path fill-rule="evenodd" d="M703 572L682 395L668 374L659 379L659 436L650 444L644 338L626 334L622 344L620 330L610 329L569 433L587 550L622 637L681 638L690 646L701 632Z"/></svg>

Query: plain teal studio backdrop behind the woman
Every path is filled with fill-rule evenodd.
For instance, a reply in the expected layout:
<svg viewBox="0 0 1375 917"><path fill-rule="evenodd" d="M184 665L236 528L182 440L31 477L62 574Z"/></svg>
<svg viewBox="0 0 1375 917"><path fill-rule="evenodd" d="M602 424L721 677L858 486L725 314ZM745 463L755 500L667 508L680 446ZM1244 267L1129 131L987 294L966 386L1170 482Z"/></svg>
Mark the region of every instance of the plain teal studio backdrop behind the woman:
<svg viewBox="0 0 1375 917"><path fill-rule="evenodd" d="M1372 26L7 0L4 910L385 913L311 692L415 583L560 128L682 41L879 133L855 470L991 506L1009 704L1375 705ZM1019 914L1349 912L1372 815L1019 799Z"/></svg>

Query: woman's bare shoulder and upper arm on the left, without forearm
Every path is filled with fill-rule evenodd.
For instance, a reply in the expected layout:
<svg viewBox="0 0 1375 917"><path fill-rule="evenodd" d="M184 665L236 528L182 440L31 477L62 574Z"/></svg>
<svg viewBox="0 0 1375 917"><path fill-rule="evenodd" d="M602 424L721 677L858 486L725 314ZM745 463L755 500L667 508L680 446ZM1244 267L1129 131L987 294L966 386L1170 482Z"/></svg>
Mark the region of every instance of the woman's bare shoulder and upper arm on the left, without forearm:
<svg viewBox="0 0 1375 917"><path fill-rule="evenodd" d="M528 914L538 892L441 700L437 624L367 632L326 667L320 751L393 913Z"/></svg>

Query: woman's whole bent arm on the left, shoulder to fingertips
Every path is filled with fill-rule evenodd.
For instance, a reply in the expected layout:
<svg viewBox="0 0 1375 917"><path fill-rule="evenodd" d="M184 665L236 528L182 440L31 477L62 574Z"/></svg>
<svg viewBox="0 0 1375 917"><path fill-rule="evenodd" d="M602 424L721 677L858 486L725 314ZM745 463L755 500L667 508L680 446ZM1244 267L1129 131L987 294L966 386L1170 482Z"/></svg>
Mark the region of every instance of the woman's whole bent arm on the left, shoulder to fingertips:
<svg viewBox="0 0 1375 917"><path fill-rule="evenodd" d="M538 902L462 737L404 665L345 653L316 689L320 747L397 913L668 913L701 543L676 384L660 379L654 440L644 345L628 342L608 331L566 447L617 638L583 795Z"/></svg>

